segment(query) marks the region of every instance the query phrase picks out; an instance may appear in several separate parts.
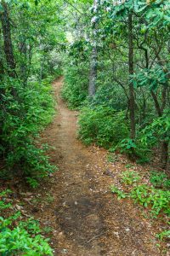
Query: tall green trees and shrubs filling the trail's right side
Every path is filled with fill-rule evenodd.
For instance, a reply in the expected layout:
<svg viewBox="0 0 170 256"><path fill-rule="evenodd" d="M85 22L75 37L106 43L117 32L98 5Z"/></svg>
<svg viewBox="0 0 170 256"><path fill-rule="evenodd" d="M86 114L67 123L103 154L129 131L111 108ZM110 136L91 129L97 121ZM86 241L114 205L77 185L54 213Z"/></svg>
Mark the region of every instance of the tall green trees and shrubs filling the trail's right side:
<svg viewBox="0 0 170 256"><path fill-rule="evenodd" d="M166 168L169 2L94 1L88 11L84 6L88 1L84 15L75 10L77 18L72 17L76 29L71 27L63 90L71 108L87 106L80 116L80 137L106 148L117 145L142 161L157 154Z"/></svg>

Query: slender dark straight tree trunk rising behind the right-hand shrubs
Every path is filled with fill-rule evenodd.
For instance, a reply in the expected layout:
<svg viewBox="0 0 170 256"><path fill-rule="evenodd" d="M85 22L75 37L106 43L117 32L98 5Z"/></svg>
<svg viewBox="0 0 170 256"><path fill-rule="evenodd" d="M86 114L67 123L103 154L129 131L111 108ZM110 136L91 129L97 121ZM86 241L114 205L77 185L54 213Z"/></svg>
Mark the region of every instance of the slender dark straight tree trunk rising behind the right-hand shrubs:
<svg viewBox="0 0 170 256"><path fill-rule="evenodd" d="M133 15L128 15L128 66L129 75L133 75ZM135 138L135 100L134 100L134 89L133 83L129 83L129 110L130 110L130 127L131 127L131 138Z"/></svg>

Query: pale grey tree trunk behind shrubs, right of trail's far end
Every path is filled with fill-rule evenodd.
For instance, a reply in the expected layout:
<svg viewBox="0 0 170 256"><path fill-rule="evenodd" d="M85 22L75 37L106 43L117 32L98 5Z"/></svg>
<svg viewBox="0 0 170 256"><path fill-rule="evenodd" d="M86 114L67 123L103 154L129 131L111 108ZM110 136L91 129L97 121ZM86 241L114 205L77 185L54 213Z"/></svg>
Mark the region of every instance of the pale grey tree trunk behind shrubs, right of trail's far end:
<svg viewBox="0 0 170 256"><path fill-rule="evenodd" d="M90 65L90 76L89 76L89 86L88 86L88 95L93 97L96 91L96 79L97 79L97 59L98 53L97 48L94 46L92 49L91 55L91 65Z"/></svg>

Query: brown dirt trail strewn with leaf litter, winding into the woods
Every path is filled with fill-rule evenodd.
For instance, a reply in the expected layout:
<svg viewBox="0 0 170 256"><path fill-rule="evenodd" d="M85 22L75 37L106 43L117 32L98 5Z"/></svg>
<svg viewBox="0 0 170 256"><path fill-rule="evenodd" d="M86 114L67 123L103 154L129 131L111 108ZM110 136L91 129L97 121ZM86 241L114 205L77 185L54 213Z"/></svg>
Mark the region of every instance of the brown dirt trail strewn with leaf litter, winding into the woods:
<svg viewBox="0 0 170 256"><path fill-rule="evenodd" d="M42 222L54 228L54 255L161 255L138 210L111 195L104 149L77 140L77 112L60 99L61 85L62 79L54 83L58 114L42 136L59 166L48 187L53 200L41 212Z"/></svg>

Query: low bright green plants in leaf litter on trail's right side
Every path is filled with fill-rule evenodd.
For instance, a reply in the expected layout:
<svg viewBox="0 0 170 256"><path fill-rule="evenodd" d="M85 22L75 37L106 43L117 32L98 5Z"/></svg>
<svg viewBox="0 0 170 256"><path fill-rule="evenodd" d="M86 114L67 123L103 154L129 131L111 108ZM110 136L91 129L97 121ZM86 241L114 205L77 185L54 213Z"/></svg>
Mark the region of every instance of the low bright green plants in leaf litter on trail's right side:
<svg viewBox="0 0 170 256"><path fill-rule="evenodd" d="M149 180L144 183L139 172L127 170L122 172L120 181L123 189L111 185L112 193L117 195L119 200L132 199L135 203L147 208L151 218L170 217L170 179L166 173L150 172ZM169 230L163 230L157 235L160 240L166 240L169 236Z"/></svg>

